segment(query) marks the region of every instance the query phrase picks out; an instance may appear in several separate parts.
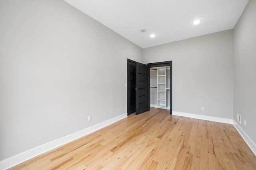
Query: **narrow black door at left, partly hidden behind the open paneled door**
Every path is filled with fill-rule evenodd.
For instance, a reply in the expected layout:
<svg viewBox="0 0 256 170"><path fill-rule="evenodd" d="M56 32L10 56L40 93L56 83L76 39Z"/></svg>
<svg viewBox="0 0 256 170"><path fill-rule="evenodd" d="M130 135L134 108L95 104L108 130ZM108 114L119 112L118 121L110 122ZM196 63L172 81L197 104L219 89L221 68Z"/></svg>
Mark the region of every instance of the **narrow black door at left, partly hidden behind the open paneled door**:
<svg viewBox="0 0 256 170"><path fill-rule="evenodd" d="M136 111L136 62L127 60L127 113Z"/></svg>

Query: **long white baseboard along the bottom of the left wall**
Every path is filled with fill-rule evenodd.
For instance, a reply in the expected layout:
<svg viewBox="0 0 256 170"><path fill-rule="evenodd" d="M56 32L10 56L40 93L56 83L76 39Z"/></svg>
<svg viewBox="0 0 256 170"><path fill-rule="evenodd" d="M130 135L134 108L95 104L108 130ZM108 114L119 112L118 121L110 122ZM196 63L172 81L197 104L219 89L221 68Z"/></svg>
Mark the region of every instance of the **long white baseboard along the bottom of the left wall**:
<svg viewBox="0 0 256 170"><path fill-rule="evenodd" d="M124 113L122 115L119 115L117 117L114 117L112 119L108 119L107 121L104 121L104 122L101 122L101 123L98 123L96 125L93 125L91 127L88 127L86 129L83 129L81 131L78 131L78 132L75 132L75 133L72 133L70 135L67 135L65 137L62 137L60 139L57 139L55 141L52 141L52 142L49 142L49 143L46 143L44 145L41 145L39 147L36 147L36 148L33 148L33 149L30 149L30 150L27 150L26 152L23 152L23 153L20 153L20 154L17 154L15 156L12 156L10 158L7 158L5 160L1 160L0 161L0 169L1 170L6 170L8 168L11 168L15 165L18 165L26 160L29 160L31 158L34 158L35 156L38 156L42 153L45 153L49 150L52 150L54 148L57 148L57 147L60 147L66 143L69 143L71 141L74 141L80 137L83 137L84 135L88 135L89 133L92 133L94 131L97 131L98 129L101 129L103 127L106 127L116 121L119 121L121 119L124 119L127 117L127 113Z"/></svg>

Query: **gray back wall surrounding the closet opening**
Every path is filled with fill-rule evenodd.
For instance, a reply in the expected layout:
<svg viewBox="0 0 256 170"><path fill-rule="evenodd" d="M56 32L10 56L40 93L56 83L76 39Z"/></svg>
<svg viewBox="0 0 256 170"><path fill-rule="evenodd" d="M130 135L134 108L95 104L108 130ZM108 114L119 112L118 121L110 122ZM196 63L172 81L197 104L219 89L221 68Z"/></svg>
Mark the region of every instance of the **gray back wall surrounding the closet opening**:
<svg viewBox="0 0 256 170"><path fill-rule="evenodd" d="M173 64L173 111L233 118L232 30L143 49L144 63L161 61Z"/></svg>

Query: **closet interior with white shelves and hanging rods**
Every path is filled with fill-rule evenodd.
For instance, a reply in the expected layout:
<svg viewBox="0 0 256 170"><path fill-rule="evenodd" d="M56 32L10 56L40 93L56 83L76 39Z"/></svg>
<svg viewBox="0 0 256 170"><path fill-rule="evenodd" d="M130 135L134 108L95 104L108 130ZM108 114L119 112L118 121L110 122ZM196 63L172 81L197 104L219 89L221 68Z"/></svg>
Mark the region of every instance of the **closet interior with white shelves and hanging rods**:
<svg viewBox="0 0 256 170"><path fill-rule="evenodd" d="M170 109L170 66L150 68L150 107Z"/></svg>

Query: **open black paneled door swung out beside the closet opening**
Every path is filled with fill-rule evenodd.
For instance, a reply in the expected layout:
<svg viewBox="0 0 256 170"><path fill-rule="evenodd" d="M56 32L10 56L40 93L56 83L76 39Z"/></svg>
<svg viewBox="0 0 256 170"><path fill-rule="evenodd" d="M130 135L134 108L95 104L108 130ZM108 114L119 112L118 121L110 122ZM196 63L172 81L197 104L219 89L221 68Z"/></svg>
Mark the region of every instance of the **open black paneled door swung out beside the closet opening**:
<svg viewBox="0 0 256 170"><path fill-rule="evenodd" d="M136 115L149 111L148 65L136 63Z"/></svg>

